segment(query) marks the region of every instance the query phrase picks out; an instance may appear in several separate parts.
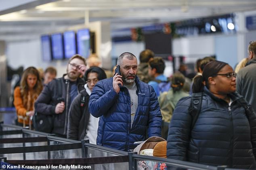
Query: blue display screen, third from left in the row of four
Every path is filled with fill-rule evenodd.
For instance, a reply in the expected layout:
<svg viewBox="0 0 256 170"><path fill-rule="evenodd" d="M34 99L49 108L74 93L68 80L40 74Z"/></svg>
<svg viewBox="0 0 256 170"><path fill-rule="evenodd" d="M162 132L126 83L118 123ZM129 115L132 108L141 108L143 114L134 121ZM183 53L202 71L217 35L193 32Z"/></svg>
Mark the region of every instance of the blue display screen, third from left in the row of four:
<svg viewBox="0 0 256 170"><path fill-rule="evenodd" d="M65 58L71 58L76 54L76 33L67 31L63 33Z"/></svg>

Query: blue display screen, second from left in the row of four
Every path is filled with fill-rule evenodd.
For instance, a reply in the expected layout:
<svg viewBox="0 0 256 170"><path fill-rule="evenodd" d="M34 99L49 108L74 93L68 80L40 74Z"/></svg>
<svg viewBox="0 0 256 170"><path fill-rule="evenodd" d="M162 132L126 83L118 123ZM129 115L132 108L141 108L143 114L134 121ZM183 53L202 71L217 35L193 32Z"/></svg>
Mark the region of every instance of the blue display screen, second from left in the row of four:
<svg viewBox="0 0 256 170"><path fill-rule="evenodd" d="M61 33L56 33L51 35L52 39L52 58L53 59L63 59L63 37Z"/></svg>

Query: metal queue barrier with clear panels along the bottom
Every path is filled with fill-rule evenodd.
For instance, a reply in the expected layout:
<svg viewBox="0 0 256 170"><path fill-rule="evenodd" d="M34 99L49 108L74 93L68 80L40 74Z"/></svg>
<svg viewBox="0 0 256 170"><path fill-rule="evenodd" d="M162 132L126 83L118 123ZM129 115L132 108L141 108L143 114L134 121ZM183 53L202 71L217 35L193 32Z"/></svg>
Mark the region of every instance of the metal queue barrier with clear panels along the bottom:
<svg viewBox="0 0 256 170"><path fill-rule="evenodd" d="M8 135L22 134L22 137L6 137ZM37 137L29 137L26 134L34 135ZM3 138L4 137L4 138ZM52 141L55 143L50 144ZM47 145L37 145L37 146L25 146L25 143L34 142L47 142ZM61 142L61 143L56 143ZM6 143L23 143L21 147L3 147ZM49 154L50 152L59 150L74 150L79 149L81 153L81 158L52 158ZM100 155L93 152L103 152L105 155ZM29 159L26 160L24 154L34 153L34 152L48 152L47 159ZM5 154L18 154L23 153L23 159L11 160L5 157ZM23 129L22 127L16 125L4 125L0 124L0 158L1 168L4 164L11 165L26 165L26 166L53 166L53 169L57 166L61 166L61 169L66 166L66 168L77 168L81 169L84 165L87 168L92 169L127 169L127 170L140 170L141 164L146 163L148 165L165 163L170 169L189 169L189 170L235 170L231 168L226 168L226 166L207 166L202 164L195 164L192 162L184 162L179 160L172 160L166 158L158 158L154 156L142 156L134 152L124 152L119 150L114 150L111 148L94 145L88 143L88 140L76 141L65 139L61 137L56 137L53 134L42 133L38 131ZM90 165L90 166L89 166ZM107 165L107 166L103 166ZM118 166L116 166L118 165ZM0 169L1 169L0 168ZM4 168L2 168L4 169ZM52 169L52 167L46 167L46 169Z"/></svg>

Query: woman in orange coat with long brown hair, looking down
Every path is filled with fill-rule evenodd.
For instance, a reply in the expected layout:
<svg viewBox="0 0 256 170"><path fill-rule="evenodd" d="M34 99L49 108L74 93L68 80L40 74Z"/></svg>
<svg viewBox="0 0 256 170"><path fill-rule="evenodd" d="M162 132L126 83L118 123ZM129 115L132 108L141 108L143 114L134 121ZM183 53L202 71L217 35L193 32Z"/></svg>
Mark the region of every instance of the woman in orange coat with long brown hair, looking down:
<svg viewBox="0 0 256 170"><path fill-rule="evenodd" d="M43 89L39 72L34 67L27 68L21 77L20 86L14 90L13 104L17 111L18 124L29 125L30 117L34 115L34 102Z"/></svg>

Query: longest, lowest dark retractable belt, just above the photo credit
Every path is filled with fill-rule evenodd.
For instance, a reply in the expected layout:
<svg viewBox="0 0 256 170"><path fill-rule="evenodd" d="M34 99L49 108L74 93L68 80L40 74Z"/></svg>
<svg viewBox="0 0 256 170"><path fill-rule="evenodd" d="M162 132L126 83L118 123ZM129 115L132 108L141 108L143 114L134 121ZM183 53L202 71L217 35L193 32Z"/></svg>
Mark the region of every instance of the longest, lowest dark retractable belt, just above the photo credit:
<svg viewBox="0 0 256 170"><path fill-rule="evenodd" d="M50 159L50 160L6 160L13 165L92 165L92 164L112 164L129 162L129 156L108 156L95 158L71 158L71 159Z"/></svg>

